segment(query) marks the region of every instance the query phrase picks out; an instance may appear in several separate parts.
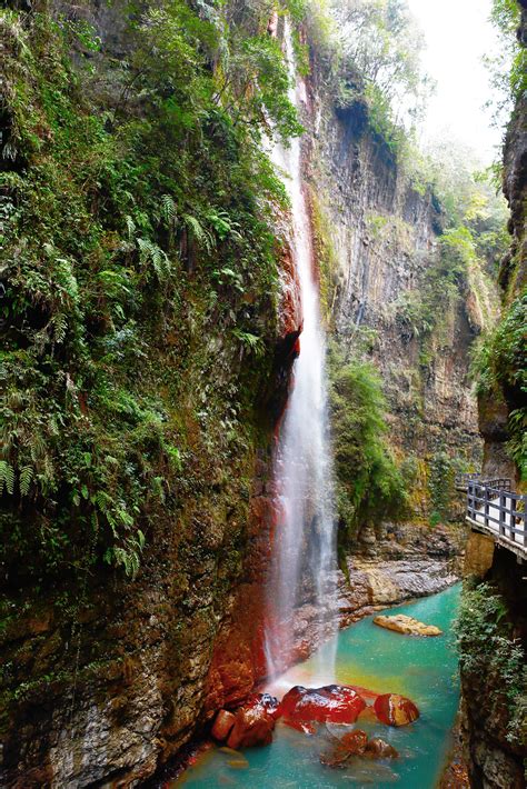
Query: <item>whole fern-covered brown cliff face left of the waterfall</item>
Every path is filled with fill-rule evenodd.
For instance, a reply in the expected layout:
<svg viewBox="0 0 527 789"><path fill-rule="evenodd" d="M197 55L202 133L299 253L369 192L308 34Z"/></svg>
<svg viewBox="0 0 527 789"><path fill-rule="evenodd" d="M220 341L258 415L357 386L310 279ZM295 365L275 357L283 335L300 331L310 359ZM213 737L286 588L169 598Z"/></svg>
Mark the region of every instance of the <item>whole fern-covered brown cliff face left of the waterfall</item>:
<svg viewBox="0 0 527 789"><path fill-rule="evenodd" d="M8 389L2 429L12 428L9 461L31 446L37 472L26 498L18 473L0 491L0 783L136 786L203 720L215 640L232 589L255 575L246 561L251 547L268 533L262 493L298 334L295 302L280 302L277 281L287 293L294 274L287 246L266 231L251 190L243 194L239 182L229 182L243 143L229 137L228 122L218 128L226 119L215 108L218 126L207 123L196 138L187 107L183 136L176 133L181 117L170 98L175 90L180 98L181 84L173 72L168 84L162 80L180 54L170 52L157 80L156 111L148 100L145 109L141 101L156 96L157 84L138 99L126 69L120 82L119 64L132 68L135 48L140 51L140 31L126 32L123 4L39 3L24 8L28 13L11 7L0 18L1 203L2 218L11 220L3 228L10 254L1 263L10 306L0 324ZM136 76L156 79L155 68L150 62ZM185 68L183 88L190 61ZM198 72L199 101L209 73ZM226 152L222 133L232 150ZM128 146L136 143L142 150L131 156ZM172 179L181 159L165 172L158 168L178 147L186 157L179 176L188 177L179 204ZM146 209L152 197L163 203ZM241 280L236 287L229 269L226 220L238 199L237 228L250 238L241 254L250 260L249 288ZM261 204L261 193L257 199ZM201 200L218 211L216 230L196 217ZM183 212L193 212L187 226ZM241 228L251 216L252 229ZM265 287L257 281L266 268L258 259L262 239L270 266ZM207 247L215 247L212 259ZM168 278L166 266L175 267ZM239 266L237 272L242 276ZM34 282L39 296L31 294ZM57 336L51 317L64 287ZM255 351L248 343L256 340ZM60 427L47 432L54 418ZM50 472L42 505L37 481L53 463L60 472L68 458L69 479ZM100 477L103 465L108 473ZM123 476L128 482L119 488ZM127 510L130 493L137 499ZM105 540L123 525L131 540L137 535L135 552L125 540L117 546L122 552L105 553ZM110 566L112 557L125 565ZM255 606L250 626L261 620ZM236 652L238 695L253 685L257 655L256 646Z"/></svg>

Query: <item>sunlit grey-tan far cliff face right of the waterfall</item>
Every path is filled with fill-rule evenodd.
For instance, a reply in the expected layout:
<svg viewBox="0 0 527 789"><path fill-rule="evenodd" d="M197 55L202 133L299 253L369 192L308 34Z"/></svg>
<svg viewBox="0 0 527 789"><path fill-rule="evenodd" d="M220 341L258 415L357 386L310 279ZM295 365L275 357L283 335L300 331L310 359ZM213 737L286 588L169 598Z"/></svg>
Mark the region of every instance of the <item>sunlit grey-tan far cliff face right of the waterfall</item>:
<svg viewBox="0 0 527 789"><path fill-rule="evenodd" d="M380 371L389 442L399 461L414 461L414 517L426 517L435 456L458 469L481 461L470 348L493 320L494 294L474 272L454 291L441 282L446 218L369 127L360 100L336 110L315 81L311 101L310 183L332 247L322 272L332 333L345 359L362 356Z"/></svg>

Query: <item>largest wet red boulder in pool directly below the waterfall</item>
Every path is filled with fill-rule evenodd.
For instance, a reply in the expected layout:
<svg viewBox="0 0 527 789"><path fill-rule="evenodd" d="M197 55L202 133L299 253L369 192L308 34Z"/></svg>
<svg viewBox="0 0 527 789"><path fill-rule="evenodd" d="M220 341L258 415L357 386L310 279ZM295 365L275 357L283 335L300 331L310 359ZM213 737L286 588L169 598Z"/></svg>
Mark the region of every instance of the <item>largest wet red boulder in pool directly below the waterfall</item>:
<svg viewBox="0 0 527 789"><path fill-rule="evenodd" d="M279 715L297 723L355 723L365 709L366 701L346 686L328 685L324 688L296 686L281 700Z"/></svg>

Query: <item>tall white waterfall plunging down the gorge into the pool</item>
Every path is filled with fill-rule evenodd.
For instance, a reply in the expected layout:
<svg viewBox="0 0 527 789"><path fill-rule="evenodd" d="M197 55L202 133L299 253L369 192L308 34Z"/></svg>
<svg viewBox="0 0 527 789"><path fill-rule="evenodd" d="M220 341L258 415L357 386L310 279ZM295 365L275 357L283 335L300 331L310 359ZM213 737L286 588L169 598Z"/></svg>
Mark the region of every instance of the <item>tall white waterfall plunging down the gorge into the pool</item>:
<svg viewBox="0 0 527 789"><path fill-rule="evenodd" d="M300 110L306 101L306 86L296 77L288 20L285 26L291 77L289 98ZM309 603L315 643L330 635L336 535L326 343L314 271L311 223L302 186L300 139L294 139L289 148L276 144L271 158L286 176L292 214L290 242L302 311L300 352L292 369L292 391L280 427L274 466L277 523L268 585L266 655L268 676L276 676L296 657L295 612L299 605ZM332 667L326 666L325 672L332 675Z"/></svg>

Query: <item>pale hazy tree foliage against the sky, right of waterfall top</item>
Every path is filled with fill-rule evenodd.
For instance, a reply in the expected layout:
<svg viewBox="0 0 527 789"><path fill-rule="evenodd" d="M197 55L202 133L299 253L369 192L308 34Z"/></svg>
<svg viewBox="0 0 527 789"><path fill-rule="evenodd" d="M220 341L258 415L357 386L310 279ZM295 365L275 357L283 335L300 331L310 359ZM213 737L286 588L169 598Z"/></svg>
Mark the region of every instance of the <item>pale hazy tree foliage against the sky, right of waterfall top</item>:
<svg viewBox="0 0 527 789"><path fill-rule="evenodd" d="M336 106L358 102L378 140L399 157L431 87L420 70L422 39L407 3L347 0L326 8L312 2L305 24Z"/></svg>

